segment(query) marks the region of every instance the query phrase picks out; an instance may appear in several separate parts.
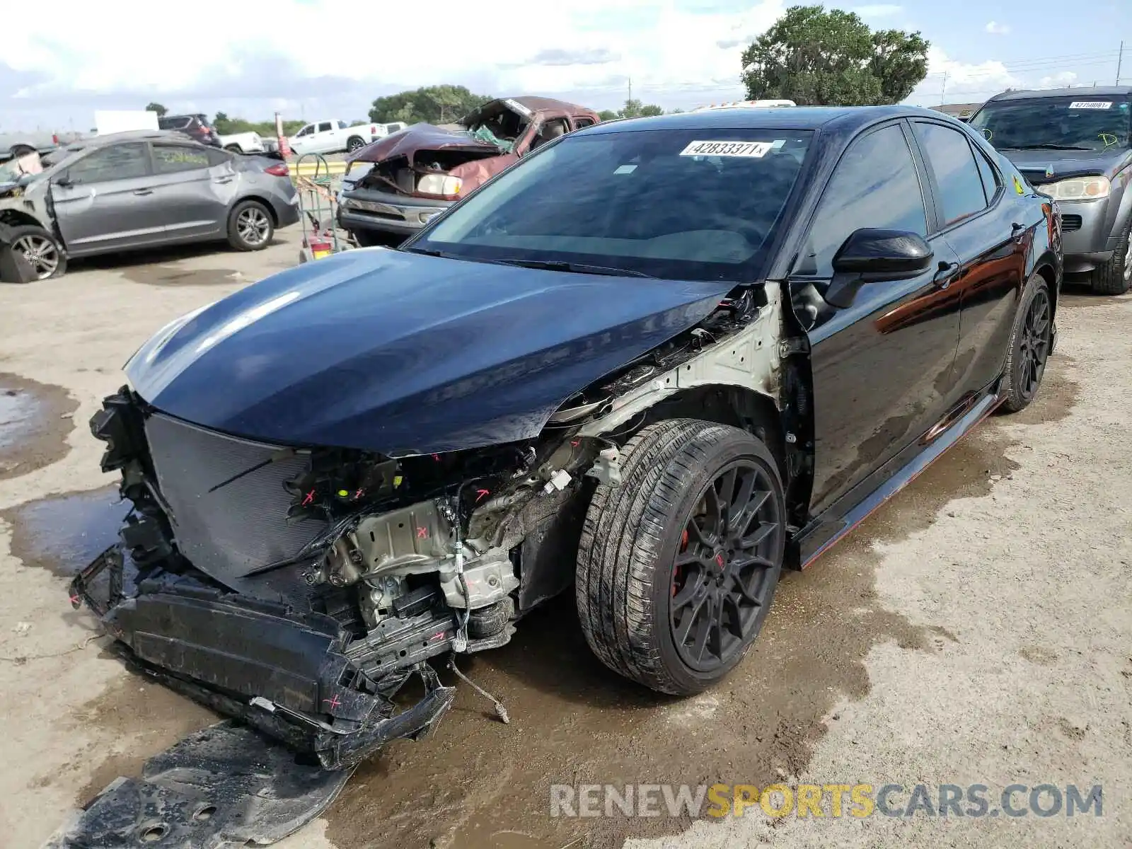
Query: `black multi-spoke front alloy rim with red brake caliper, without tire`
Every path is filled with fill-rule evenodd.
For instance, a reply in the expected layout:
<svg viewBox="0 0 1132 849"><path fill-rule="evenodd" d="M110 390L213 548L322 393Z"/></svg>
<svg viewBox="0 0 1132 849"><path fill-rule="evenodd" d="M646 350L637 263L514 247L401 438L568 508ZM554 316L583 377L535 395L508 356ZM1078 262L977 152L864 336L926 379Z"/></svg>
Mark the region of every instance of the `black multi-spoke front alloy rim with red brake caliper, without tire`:
<svg viewBox="0 0 1132 849"><path fill-rule="evenodd" d="M672 567L669 627L688 667L710 674L749 643L778 580L781 533L774 483L753 461L732 461L704 488Z"/></svg>

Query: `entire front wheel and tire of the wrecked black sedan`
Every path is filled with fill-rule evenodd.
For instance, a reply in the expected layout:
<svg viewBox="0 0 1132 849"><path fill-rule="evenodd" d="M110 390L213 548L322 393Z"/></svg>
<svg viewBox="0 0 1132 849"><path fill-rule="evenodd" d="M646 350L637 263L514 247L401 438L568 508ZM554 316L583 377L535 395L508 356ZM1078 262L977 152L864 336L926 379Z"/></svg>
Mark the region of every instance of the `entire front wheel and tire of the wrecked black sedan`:
<svg viewBox="0 0 1132 849"><path fill-rule="evenodd" d="M778 464L745 430L651 424L599 484L577 555L586 642L610 669L674 695L700 693L743 659L782 572Z"/></svg>

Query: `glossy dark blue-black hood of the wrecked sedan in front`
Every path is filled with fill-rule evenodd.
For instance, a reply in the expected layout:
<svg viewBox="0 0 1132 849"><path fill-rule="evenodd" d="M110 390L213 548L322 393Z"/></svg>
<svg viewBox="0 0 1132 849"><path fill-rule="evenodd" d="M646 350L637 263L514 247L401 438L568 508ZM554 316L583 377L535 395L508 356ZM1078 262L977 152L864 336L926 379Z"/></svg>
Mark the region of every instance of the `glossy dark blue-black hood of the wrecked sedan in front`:
<svg viewBox="0 0 1132 849"><path fill-rule="evenodd" d="M261 441L475 448L537 436L729 289L355 249L173 321L126 372L156 409Z"/></svg>

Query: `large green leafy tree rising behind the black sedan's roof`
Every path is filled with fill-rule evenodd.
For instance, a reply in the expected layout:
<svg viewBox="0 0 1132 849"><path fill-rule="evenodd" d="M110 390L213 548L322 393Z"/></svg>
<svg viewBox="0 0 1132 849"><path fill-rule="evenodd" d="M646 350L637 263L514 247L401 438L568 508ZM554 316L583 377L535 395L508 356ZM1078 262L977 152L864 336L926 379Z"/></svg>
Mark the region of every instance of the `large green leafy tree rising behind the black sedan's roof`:
<svg viewBox="0 0 1132 849"><path fill-rule="evenodd" d="M918 32L873 32L857 15L794 6L743 52L751 100L799 105L875 105L904 100L927 76Z"/></svg>

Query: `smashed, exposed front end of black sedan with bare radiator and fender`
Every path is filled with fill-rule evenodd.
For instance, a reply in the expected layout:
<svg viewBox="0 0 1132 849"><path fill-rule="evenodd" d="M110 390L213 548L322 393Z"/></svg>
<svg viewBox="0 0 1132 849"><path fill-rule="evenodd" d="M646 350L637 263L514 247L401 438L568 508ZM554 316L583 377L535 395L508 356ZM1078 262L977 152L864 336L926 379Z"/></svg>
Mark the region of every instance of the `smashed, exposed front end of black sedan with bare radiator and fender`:
<svg viewBox="0 0 1132 849"><path fill-rule="evenodd" d="M688 404L741 410L731 392L781 406L782 294L773 283L736 292L566 400L538 438L486 448L392 457L263 444L123 387L91 429L132 509L71 601L102 618L129 663L324 767L417 739L454 696L429 659L504 645L572 585L589 496L620 482L635 430ZM423 698L398 711L413 678Z"/></svg>

